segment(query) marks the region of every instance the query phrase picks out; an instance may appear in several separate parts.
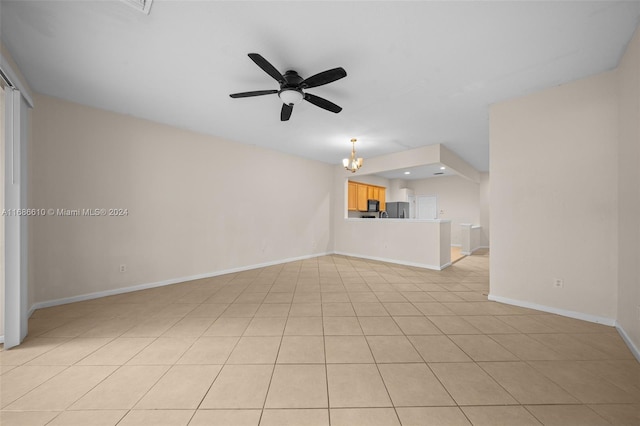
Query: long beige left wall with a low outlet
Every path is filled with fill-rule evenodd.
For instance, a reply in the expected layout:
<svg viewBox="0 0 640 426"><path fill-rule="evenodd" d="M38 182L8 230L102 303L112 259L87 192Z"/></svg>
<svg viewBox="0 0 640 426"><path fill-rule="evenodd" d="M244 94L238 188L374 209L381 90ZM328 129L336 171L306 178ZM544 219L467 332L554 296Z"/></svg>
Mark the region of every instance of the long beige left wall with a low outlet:
<svg viewBox="0 0 640 426"><path fill-rule="evenodd" d="M33 207L128 216L33 220L32 302L332 251L332 166L50 97L36 103Z"/></svg>

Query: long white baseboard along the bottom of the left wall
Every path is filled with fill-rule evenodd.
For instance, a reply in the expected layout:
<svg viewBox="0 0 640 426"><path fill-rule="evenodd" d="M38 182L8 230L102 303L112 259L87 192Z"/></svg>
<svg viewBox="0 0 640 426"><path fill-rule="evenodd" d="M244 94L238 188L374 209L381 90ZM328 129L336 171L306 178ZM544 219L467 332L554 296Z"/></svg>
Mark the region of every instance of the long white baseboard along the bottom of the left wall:
<svg viewBox="0 0 640 426"><path fill-rule="evenodd" d="M116 288L116 289L113 289L113 290L97 291L95 293L87 293L87 294L81 294L79 296L63 297L61 299L46 300L44 302L38 302L38 303L34 303L33 305L31 305L31 307L29 308L28 316L31 317L31 315L33 314L33 312L36 309L50 308L52 306L66 305L67 303L83 302L85 300L98 299L100 297L115 296L115 295L118 295L118 294L131 293L133 291L147 290L147 289L156 288L156 287L163 287L165 285L178 284L178 283L185 282L185 281L194 281L194 280L200 280L200 279L203 279L203 278L211 278L211 277L217 277L217 276L220 276L220 275L233 274L233 273L236 273L236 272L250 271L252 269L265 268L267 266L280 265L280 264L283 264L283 263L296 262L296 261L299 261L299 260L313 259L315 257L327 256L327 255L330 255L330 254L332 254L332 253L327 252L327 253L310 254L310 255L306 255L306 256L290 257L290 258L287 258L287 259L275 260L275 261L271 261L271 262L264 262L264 263L257 263L257 264L254 264L254 265L240 266L238 268L224 269L224 270L215 271L215 272L208 272L208 273L204 273L204 274L189 275L189 276L186 276L186 277L171 278L171 279L168 279L168 280L156 281L156 282L153 282L153 283L138 284L138 285L134 285L134 286L130 286L130 287Z"/></svg>

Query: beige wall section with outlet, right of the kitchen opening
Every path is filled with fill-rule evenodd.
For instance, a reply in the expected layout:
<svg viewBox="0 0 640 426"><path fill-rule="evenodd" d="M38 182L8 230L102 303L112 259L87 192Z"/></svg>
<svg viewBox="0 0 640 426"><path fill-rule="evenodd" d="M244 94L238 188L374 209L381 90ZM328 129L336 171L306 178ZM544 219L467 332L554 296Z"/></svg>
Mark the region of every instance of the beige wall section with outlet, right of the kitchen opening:
<svg viewBox="0 0 640 426"><path fill-rule="evenodd" d="M613 72L492 106L492 298L616 318L617 108Z"/></svg>

